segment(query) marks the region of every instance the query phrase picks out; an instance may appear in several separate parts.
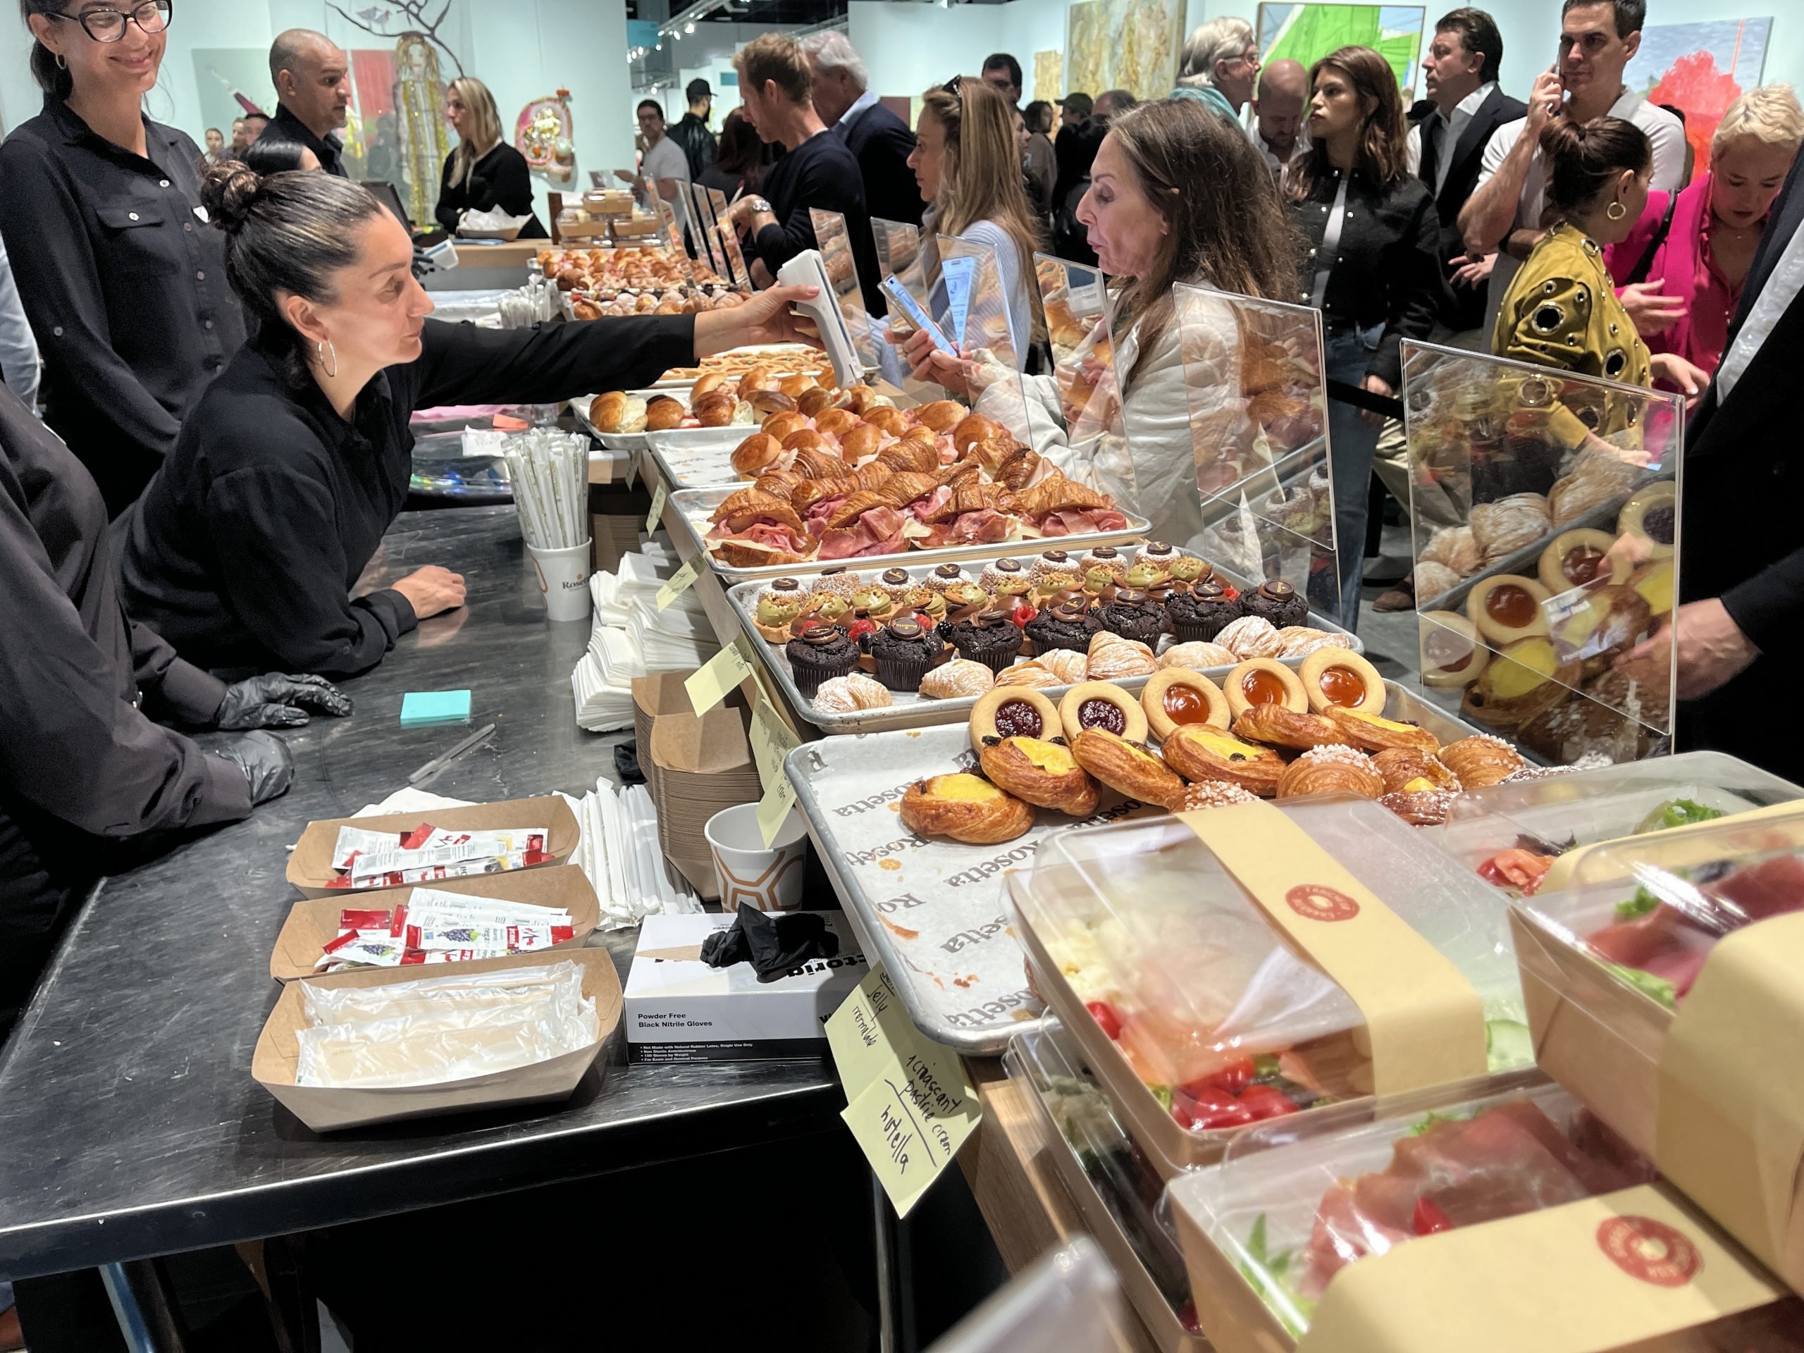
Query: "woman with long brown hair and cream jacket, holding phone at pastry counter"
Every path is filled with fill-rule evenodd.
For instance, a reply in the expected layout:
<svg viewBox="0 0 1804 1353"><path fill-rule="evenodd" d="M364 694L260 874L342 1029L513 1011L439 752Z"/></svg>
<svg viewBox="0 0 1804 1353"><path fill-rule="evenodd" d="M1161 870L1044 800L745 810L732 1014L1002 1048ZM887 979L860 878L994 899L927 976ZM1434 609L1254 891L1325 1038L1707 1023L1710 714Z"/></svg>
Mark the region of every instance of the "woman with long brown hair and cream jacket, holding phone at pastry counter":
<svg viewBox="0 0 1804 1353"><path fill-rule="evenodd" d="M1187 354L1232 361L1234 316L1227 307L1192 310L1180 334L1171 289L1191 283L1290 299L1295 233L1247 133L1196 99L1142 103L1109 123L1077 218L1115 289L1115 375L1106 379L1118 382L1120 411L1102 435L1077 438L1059 426L1055 381L1026 377L1025 440L1066 476L1146 516L1153 538L1189 545L1203 530L1192 447L1212 440L1214 429L1230 435L1245 411L1238 375L1200 388L1185 382ZM918 377L971 388L967 364L936 354L925 336L909 339L907 355ZM980 410L1008 420L1005 397L1014 390L987 390ZM1090 406L1108 399L1117 390L1099 386Z"/></svg>

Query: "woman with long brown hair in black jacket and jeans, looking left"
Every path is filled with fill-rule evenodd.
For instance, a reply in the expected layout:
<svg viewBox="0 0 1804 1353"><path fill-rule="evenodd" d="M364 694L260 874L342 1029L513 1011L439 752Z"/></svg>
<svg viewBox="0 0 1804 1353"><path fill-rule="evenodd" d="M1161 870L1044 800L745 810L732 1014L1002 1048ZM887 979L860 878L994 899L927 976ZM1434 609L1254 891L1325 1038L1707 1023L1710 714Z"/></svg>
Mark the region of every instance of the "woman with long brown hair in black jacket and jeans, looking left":
<svg viewBox="0 0 1804 1353"><path fill-rule="evenodd" d="M1391 63L1369 47L1340 47L1310 69L1310 148L1284 171L1302 231L1301 289L1292 299L1322 312L1328 379L1380 397L1404 384L1402 341L1434 328L1441 274L1434 198L1409 173L1404 99ZM1333 449L1340 624L1358 624L1366 498L1380 413L1328 402Z"/></svg>

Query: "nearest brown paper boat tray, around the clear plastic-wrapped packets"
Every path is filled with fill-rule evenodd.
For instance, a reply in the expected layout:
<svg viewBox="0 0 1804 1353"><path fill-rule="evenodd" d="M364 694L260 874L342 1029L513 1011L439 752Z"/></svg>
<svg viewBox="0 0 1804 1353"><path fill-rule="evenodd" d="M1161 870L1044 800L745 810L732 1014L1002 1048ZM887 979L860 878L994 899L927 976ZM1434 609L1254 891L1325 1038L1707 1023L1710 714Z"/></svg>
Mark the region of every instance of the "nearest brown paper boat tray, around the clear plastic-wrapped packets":
<svg viewBox="0 0 1804 1353"><path fill-rule="evenodd" d="M601 1037L586 1048L532 1066L429 1086L357 1090L294 1084L294 1063L299 1057L296 1032L307 1023L303 999L308 987L388 987L422 978L420 969L377 969L373 972L334 972L314 981L290 981L283 987L281 996L276 998L276 1008L269 1012L263 1032L256 1039L251 1075L316 1133L368 1128L397 1118L426 1118L442 1113L492 1109L503 1104L543 1104L568 1099L621 1026L621 974L606 949L568 949L554 956L485 958L438 969L438 972L460 976L505 972L511 967L543 967L548 962L572 962L583 969L583 994L595 1001L595 1014L601 1021Z"/></svg>

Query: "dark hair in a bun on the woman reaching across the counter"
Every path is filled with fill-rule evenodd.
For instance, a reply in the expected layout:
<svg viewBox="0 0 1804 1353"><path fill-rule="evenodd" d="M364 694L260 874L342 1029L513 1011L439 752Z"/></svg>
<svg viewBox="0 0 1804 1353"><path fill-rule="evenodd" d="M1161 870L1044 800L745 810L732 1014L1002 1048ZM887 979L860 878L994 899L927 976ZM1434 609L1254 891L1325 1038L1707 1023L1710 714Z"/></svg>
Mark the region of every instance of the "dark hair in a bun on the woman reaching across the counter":
<svg viewBox="0 0 1804 1353"><path fill-rule="evenodd" d="M305 379L305 339L278 298L328 305L334 278L357 262L357 227L384 215L363 184L330 173L274 173L267 179L224 161L200 179L200 206L226 233L226 278L256 318L260 332L287 334L290 375Z"/></svg>

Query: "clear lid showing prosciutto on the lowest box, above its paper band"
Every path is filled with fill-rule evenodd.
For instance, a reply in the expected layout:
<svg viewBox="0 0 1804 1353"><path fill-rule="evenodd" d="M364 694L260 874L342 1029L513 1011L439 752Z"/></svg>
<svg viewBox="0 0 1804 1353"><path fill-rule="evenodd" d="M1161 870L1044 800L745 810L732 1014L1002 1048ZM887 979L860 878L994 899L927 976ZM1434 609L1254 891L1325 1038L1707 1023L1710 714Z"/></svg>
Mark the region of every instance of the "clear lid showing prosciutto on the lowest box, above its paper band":
<svg viewBox="0 0 1804 1353"><path fill-rule="evenodd" d="M1571 1095L1523 1073L1257 1124L1173 1182L1165 1205L1203 1331L1265 1349L1293 1346L1349 1265L1652 1178Z"/></svg>

